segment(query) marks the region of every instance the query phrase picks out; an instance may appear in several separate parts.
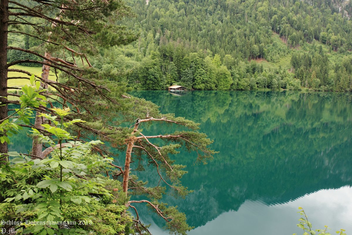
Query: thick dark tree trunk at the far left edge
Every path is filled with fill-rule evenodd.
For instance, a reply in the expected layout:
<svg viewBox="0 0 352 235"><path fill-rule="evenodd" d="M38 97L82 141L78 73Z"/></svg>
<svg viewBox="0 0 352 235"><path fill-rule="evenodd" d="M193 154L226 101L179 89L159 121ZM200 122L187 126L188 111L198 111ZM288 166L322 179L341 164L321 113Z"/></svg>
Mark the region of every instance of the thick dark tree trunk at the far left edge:
<svg viewBox="0 0 352 235"><path fill-rule="evenodd" d="M7 27L8 27L8 0L0 0L0 101L5 102L7 97ZM7 104L0 106L0 120L7 117ZM1 135L3 135L1 133ZM7 143L0 143L0 153L7 153Z"/></svg>

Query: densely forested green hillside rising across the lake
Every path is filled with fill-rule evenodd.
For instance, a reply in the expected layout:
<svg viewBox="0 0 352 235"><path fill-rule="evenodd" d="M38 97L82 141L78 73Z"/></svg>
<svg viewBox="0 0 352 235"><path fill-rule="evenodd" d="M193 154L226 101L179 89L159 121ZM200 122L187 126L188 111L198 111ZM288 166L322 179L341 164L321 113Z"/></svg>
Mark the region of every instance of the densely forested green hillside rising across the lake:
<svg viewBox="0 0 352 235"><path fill-rule="evenodd" d="M122 22L138 40L101 49L93 66L133 88L351 91L351 0L128 4L136 17Z"/></svg>

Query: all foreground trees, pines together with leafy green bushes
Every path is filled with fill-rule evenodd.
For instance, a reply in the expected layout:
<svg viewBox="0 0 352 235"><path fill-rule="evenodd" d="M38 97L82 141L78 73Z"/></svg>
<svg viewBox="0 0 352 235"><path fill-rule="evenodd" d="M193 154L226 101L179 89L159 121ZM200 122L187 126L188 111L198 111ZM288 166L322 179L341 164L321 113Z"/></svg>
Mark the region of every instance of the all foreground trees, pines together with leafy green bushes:
<svg viewBox="0 0 352 235"><path fill-rule="evenodd" d="M198 161L206 162L206 159L215 153L207 147L212 141L205 134L197 132L196 123L172 114L162 115L158 107L151 102L126 94L124 77L128 74L128 69L120 73L117 71L118 67L112 63L102 62L101 67L93 67L91 63L99 62L95 55L100 51L136 40L134 32L117 22L122 17L132 16L131 8L119 0L1 1L1 4L0 44L4 47L1 48L3 54L0 68L4 69L2 71L5 73L0 74L0 150L3 163L1 172L4 172L2 176L5 178L2 183L6 184L1 192L2 202L6 204L4 216L12 221L21 212L24 215L22 220L27 218L78 222L80 218L93 213L89 216L97 216L101 226L107 226L106 230L100 231L102 227L97 225L95 234L115 234L130 231L129 229L132 230L128 233L142 234L148 230L140 222L138 212L136 211L137 218L134 219L126 209L135 209L132 203L145 203L164 218L167 228L173 233L184 234L189 230L184 214L178 212L176 207L168 207L165 203L158 202L165 194L166 188L158 184L148 186L145 190L146 182L139 181L137 175L130 174L130 162L142 158L152 161L151 167L156 167L156 174L161 180L173 188L176 195L185 196L189 191L180 184L180 178L186 172L182 170L182 165L174 164L175 160L169 157L169 153L175 154L178 152L176 149L183 146L188 151L196 150ZM12 41L17 43L11 43ZM21 41L24 43L19 43ZM20 53L9 53L9 56L6 56L8 51ZM113 56L107 59L111 62L121 62ZM155 64L155 72L147 71L146 74L148 78L156 80L148 81L146 85L158 84L158 79L161 78L161 74L158 76L156 73L160 69L157 67L158 55L151 53L150 59L146 64ZM31 74L12 67L28 63L42 66L42 74ZM50 79L50 70L55 73L54 79ZM9 78L6 71L20 72L30 78ZM22 88L8 87L8 79L29 79L30 85ZM16 91L19 89L20 91ZM9 96L18 99L8 99ZM18 106L21 108L18 109ZM34 122L31 122L31 118ZM126 127L126 123L131 122L134 122L134 126ZM181 128L171 134L146 136L138 128L139 124L144 122L174 123L188 131ZM12 135L17 134L20 128L32 130L32 151L29 150L26 154L8 153L7 143L11 142ZM109 168L105 166L96 173L87 175L87 169L96 164L95 157L104 160L113 155L102 142L90 141L92 135L93 138L109 142L113 148L125 149L126 154L119 159L115 157L113 162L109 161ZM155 138L165 140L165 143L152 144L149 139ZM79 148L85 144L87 147L83 150L87 151L82 152ZM133 154L132 148L136 148ZM76 150L78 152L72 158L70 153ZM100 157L93 152L99 153ZM19 159L11 160L12 155L18 156ZM88 158L82 160L87 166L83 163L82 165L80 160L77 162L77 157ZM17 169L20 168L23 170L18 173ZM43 168L43 171L35 170L39 168ZM23 176L22 173L29 171L33 171L35 177L31 174L30 178ZM101 177L103 179L99 181ZM112 181L110 177L113 178ZM16 185L11 183L18 183L21 178L21 184L17 186L24 188L24 193L16 191L13 188ZM103 188L109 190L102 192ZM120 188L123 196L113 193ZM48 197L50 192L51 198ZM149 196L150 201L130 200L131 195L142 192ZM75 193L80 197L76 197ZM64 197L67 194L70 194L70 197ZM101 203L89 204L95 199ZM84 202L88 204L78 210ZM109 206L110 204L114 205ZM13 207L22 209L14 212ZM102 211L101 208L104 207L107 208L104 210L108 211ZM27 215L29 211L34 214ZM70 213L67 213L68 211ZM99 213L104 216L101 217ZM110 224L106 223L109 219L112 219ZM39 226L34 230L26 230L22 225L8 228L19 233L30 231L34 234L83 234L91 230L80 225Z"/></svg>

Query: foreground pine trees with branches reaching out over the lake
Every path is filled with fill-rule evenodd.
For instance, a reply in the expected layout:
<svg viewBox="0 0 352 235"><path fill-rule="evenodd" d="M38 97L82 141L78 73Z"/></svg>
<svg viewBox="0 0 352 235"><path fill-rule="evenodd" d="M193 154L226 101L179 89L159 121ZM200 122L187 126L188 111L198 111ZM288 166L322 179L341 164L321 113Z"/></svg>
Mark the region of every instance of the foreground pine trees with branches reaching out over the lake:
<svg viewBox="0 0 352 235"><path fill-rule="evenodd" d="M125 94L126 81L123 79L125 73L121 74L116 72L116 67L109 66L110 64L102 64L102 67L99 69L93 68L90 63L90 58L94 58L94 54L99 50L109 48L113 45L127 44L135 39L133 33L128 32L124 26L115 24L116 19L130 14L130 8L126 7L124 2L119 0L97 2L85 0L33 0L29 2L1 1L1 46L4 46L1 49L3 52L3 54L1 54L1 69L4 70L1 70L2 73L0 78L0 89L2 91L0 106L2 109L2 116L0 120L1 124L4 125L15 122L15 120L11 120L9 119L10 117L7 116L7 105L19 105L21 102L24 102L22 100L23 96L20 94L8 93L8 89L18 89L18 87L8 87L7 80L27 79L25 77L8 78L6 71L31 75L30 82L34 85L33 82L35 81L36 92L38 92L39 96L33 98L29 95L29 99L35 100L39 98L43 100L43 102L47 101L48 104L39 103L38 105L32 106L32 109L37 113L34 125L31 124L29 117L20 119L21 122L18 123L18 126L32 128L36 133L34 137L37 138L33 141L32 151L29 154L20 155L20 157L26 161L25 168L28 168L29 170L32 169L33 164L31 162L40 162L40 164L51 162L53 156L48 159L48 151L50 149L52 151L55 150L55 148L58 148L61 152L65 148L63 145L66 143L62 144L61 141L59 141L58 146L51 146L50 144L48 145L48 143L51 143L49 137L57 134L52 132L52 128L54 128L54 124L58 118L58 114L55 111L55 105L62 106L63 109L70 108L71 112L67 113L67 115L59 115L62 122L73 124L65 126L64 132L70 134L73 141L85 142L88 141L92 135L95 135L103 141L110 142L113 147L118 149L124 149L127 145L127 152L130 152L130 154L126 153L125 156L122 156L122 159L120 157L119 160L116 160L124 163L126 168L124 169L123 165L120 166L120 163L110 162L110 166L113 169L109 170L112 171L113 177L116 180L114 184L118 185L120 182L119 177L123 177L124 180L121 180L121 182L126 198L136 192L137 194L141 194L141 192L143 192L143 194L149 194L149 197L151 198L150 202L140 201L139 203L149 204L152 207L152 210L155 210L157 214L165 219L166 224L171 231L184 234L185 231L190 228L185 222L185 216L178 212L175 207L167 207L166 204L157 201L158 199L161 199L162 194L165 193L165 187L157 185L152 186L151 190L145 191L146 182L137 181L136 176L129 174L130 162L134 161L135 158L139 159L146 155L147 159L153 160L151 166L156 166L157 168L166 168L167 166L168 169L165 169L165 176L162 176L164 173L159 172L159 168L157 174L165 183L172 181L173 184L166 184L171 188L176 188L177 193L184 196L188 191L180 185L179 179L186 172L182 171L183 166L173 165L172 163L174 160L171 160L168 154L177 153L176 149L183 145L187 150L198 150L199 160L205 161L205 159L211 157L214 153L206 147L211 141L206 138L205 134L196 132L197 125L194 122L188 121L184 118L174 117L172 115L162 115L158 111L158 107L154 104ZM7 45L8 42L6 36L8 33L16 35L9 39L13 39L14 41L18 41L17 39L24 40L24 47ZM30 42L33 42L33 44ZM34 46L30 47L30 45ZM33 57L35 59L32 59L32 56L28 56L25 59L17 58L15 61L9 61L9 63L7 63L5 60L8 50L20 51L22 54L25 53L25 55L34 55L36 57ZM16 56L13 58L16 58ZM78 62L79 60L81 62ZM153 60L157 60L157 57L151 57L151 60L152 62L150 64L153 64ZM96 62L98 60L94 61ZM11 68L11 66L21 63L36 63L42 65L42 75L33 75L25 70ZM55 72L56 81L49 79L50 69ZM158 69L159 68L156 67L156 70ZM61 73L58 74L58 71L61 71ZM149 75L157 78L155 73L149 73ZM34 92L32 87L28 89L31 90L31 92ZM23 89L22 91L25 92ZM10 95L20 98L20 101L7 99ZM13 106L11 106L10 111L16 111L15 109L12 109L12 107ZM151 120L149 115L153 115L153 118L155 119ZM144 117L145 119L143 119ZM140 132L138 129L139 122L135 123L137 127L132 129L121 126L123 123L133 122L136 119L139 121L145 120L143 122L163 121L176 123L186 126L186 128L190 128L193 131L179 131L174 134L153 137L144 136ZM82 120L84 122L75 120ZM7 130L8 129L3 128L1 132L1 160L4 160L3 163L5 166L12 167L11 164L9 165L7 163L7 142L11 141L11 138L7 138L6 136L7 134L10 134ZM134 139L135 137L136 140ZM143 137L143 140L140 139L140 137ZM148 138L162 138L166 142L171 141L175 143L159 146L157 144L151 144L148 141ZM42 151L43 140L44 147L46 148L44 151ZM133 155L131 154L131 148L128 148L131 145L130 143L133 145L132 148L138 148L134 150L135 153ZM110 154L108 149L101 145L94 146L93 149L98 151L102 156ZM204 155L201 155L200 153L204 153ZM38 161L32 161L28 158L26 159L25 156L32 157ZM60 161L66 160L60 158ZM54 168L52 166L50 167ZM62 167L70 168L61 164L60 179L62 179ZM3 170L8 173L8 169L5 168ZM110 175L109 170L106 172L108 176ZM12 172L10 173L13 174ZM5 178L7 176L11 177L11 174L5 175ZM42 177L44 177L45 180L52 179L55 181L57 179L56 173L51 174L51 176L46 175L46 173L38 174L37 180L43 180ZM70 175L69 177L73 176L74 178L80 178L80 174L77 176L77 173L74 173L74 175L75 176ZM96 177L93 175L93 178ZM5 180L3 182L5 183L7 181ZM60 182L62 181L60 180ZM72 185L77 186L77 182L72 182ZM55 185L57 184L55 183ZM37 196L45 200L45 195L47 196L49 192L48 187L50 187L50 191L54 193L53 191L55 190L52 190L52 187L56 186L48 184L43 187L46 188L46 192ZM63 188L67 190L67 188ZM13 189L11 187L5 187L4 190ZM25 193L29 193L27 190L29 190L29 188L25 189ZM130 193L129 191L133 192ZM157 193L155 193L156 191ZM17 193L20 193L18 195L22 195L21 192ZM11 195L13 196L13 194ZM19 198L20 196L18 195L17 197ZM33 197L30 198L36 199ZM8 196L5 195L2 199L7 200L7 198ZM38 202L32 199L23 196L23 200L30 200L30 203L33 204L33 210L39 209L36 207ZM56 201L56 203L58 200L60 201L59 207L61 207L62 198L53 198L53 201ZM66 201L64 203L69 204L69 202ZM121 204L121 202L119 203ZM130 206L134 208L131 203L137 203L137 201L126 199L126 201L122 203L127 207ZM19 202L16 206L20 207L21 203ZM117 212L120 211L118 210ZM49 213L50 217L49 215L45 215L40 218L37 217L37 219L62 219L61 216L64 216L63 212L57 211L57 213L58 214ZM165 216L166 214L168 216ZM38 213L38 216L41 215L41 213ZM11 216L12 215L10 215L10 217ZM14 218L11 217L10 219ZM68 218L65 217L65 219ZM133 224L136 232L142 233L142 231L147 230L143 227L143 224L140 223L138 216ZM19 227L15 229L17 231L21 230ZM51 229L56 229L56 231L60 233L55 227L52 227ZM37 233L38 231L42 233L44 230L36 230L34 233ZM48 230L45 231L49 233Z"/></svg>

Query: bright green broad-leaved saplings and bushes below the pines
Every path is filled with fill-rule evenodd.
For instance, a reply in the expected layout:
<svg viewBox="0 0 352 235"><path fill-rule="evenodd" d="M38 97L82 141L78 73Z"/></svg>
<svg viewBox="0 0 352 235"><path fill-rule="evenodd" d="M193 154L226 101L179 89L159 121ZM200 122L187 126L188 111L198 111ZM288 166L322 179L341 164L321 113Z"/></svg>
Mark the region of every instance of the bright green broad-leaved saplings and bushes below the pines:
<svg viewBox="0 0 352 235"><path fill-rule="evenodd" d="M34 118L33 107L45 105L38 88L23 87L20 107L1 124L2 130L18 130L14 118ZM0 167L2 233L113 235L130 230L133 218L124 213L128 199L121 192L119 181L103 175L107 159L91 152L102 143L83 142L68 132L69 126L83 122L64 121L69 108L52 111L56 116L39 115L51 121L50 125L42 125L45 135L32 129L33 135L50 146L46 151L50 157L33 160L10 152L11 160Z"/></svg>

